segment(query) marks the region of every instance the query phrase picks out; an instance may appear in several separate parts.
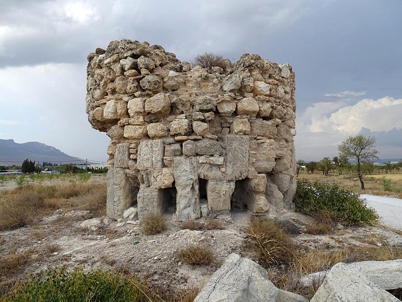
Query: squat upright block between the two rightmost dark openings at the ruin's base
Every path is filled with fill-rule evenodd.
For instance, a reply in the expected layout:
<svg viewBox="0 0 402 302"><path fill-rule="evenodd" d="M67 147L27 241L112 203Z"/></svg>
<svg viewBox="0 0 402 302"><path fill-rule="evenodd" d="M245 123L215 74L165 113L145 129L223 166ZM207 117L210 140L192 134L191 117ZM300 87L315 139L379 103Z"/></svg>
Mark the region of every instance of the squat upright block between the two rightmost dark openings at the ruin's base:
<svg viewBox="0 0 402 302"><path fill-rule="evenodd" d="M235 182L223 180L208 180L206 184L208 209L211 212L221 213L230 211L230 201Z"/></svg>

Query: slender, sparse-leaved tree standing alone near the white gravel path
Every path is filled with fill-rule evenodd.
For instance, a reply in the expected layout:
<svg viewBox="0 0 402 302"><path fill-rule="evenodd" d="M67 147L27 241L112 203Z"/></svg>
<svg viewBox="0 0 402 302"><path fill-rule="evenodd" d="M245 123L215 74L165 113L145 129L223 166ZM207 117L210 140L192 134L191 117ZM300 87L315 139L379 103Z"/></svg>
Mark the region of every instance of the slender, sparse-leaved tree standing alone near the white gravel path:
<svg viewBox="0 0 402 302"><path fill-rule="evenodd" d="M366 137L363 134L349 136L338 145L338 151L339 156L345 156L347 159L357 161L357 176L362 190L365 190L364 182L362 180L363 171L361 169L361 164L363 162L370 162L372 159L378 159L378 150L375 148L375 137Z"/></svg>

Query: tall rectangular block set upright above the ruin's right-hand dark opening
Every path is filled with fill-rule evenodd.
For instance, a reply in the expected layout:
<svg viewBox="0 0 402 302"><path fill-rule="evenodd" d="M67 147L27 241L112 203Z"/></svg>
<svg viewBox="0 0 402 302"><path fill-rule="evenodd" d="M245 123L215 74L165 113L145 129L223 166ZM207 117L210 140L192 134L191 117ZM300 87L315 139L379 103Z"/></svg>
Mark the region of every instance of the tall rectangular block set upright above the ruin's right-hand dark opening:
<svg viewBox="0 0 402 302"><path fill-rule="evenodd" d="M226 177L230 181L243 179L248 174L250 137L231 135L224 137L226 145Z"/></svg>

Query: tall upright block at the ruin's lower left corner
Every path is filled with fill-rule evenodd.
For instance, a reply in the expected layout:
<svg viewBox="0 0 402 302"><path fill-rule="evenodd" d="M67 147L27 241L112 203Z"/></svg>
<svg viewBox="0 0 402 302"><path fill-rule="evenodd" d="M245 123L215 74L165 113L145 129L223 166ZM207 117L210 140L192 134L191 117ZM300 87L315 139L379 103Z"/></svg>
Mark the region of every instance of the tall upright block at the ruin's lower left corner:
<svg viewBox="0 0 402 302"><path fill-rule="evenodd" d="M107 174L106 211L111 218L118 219L136 201L137 190L132 186L124 168L109 167Z"/></svg>

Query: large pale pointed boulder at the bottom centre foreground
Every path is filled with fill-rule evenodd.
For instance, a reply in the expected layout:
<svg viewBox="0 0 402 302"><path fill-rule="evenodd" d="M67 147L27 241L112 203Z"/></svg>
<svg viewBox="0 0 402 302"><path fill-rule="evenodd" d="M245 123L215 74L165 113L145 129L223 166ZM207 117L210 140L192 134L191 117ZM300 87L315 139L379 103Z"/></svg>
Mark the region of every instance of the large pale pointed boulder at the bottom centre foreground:
<svg viewBox="0 0 402 302"><path fill-rule="evenodd" d="M230 254L194 299L194 302L308 302L304 297L278 289L267 272L254 261Z"/></svg>

